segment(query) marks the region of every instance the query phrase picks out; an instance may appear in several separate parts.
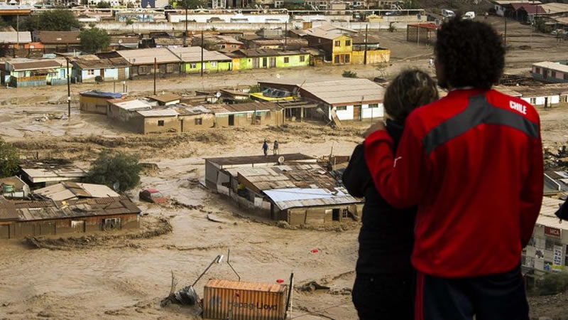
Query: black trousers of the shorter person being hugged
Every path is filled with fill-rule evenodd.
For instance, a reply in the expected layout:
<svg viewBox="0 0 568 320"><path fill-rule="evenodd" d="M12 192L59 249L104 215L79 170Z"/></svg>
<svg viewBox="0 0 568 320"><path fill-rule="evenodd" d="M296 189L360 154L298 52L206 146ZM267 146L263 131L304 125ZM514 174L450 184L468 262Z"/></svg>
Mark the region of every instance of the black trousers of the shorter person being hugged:
<svg viewBox="0 0 568 320"><path fill-rule="evenodd" d="M414 272L358 273L352 299L359 319L414 319L414 279Z"/></svg>

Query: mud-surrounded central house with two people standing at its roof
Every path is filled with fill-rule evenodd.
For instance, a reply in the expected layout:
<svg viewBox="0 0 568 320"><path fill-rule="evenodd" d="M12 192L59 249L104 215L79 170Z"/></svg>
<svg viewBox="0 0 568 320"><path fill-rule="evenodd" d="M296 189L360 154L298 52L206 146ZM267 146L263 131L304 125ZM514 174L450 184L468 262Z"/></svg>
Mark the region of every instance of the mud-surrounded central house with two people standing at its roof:
<svg viewBox="0 0 568 320"><path fill-rule="evenodd" d="M295 157L282 156L284 161ZM272 166L254 164L255 157L231 159L206 159L206 180L217 174L217 191L256 215L290 225L341 223L361 215L362 199L350 196L339 181L310 159ZM243 161L253 164L239 165Z"/></svg>

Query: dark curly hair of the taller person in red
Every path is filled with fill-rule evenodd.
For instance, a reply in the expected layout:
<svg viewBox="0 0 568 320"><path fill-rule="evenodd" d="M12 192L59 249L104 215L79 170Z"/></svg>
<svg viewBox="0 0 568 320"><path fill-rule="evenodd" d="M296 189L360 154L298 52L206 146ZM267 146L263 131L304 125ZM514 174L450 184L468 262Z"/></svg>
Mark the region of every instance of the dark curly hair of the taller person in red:
<svg viewBox="0 0 568 320"><path fill-rule="evenodd" d="M439 86L491 89L503 74L505 48L486 23L452 18L442 24L435 45L442 73Z"/></svg>

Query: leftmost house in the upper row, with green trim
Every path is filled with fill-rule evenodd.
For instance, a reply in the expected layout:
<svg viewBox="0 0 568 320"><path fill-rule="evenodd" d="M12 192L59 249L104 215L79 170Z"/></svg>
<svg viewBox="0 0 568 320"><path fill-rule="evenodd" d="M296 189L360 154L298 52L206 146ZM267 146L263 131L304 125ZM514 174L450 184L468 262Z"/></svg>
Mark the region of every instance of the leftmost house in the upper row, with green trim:
<svg viewBox="0 0 568 320"><path fill-rule="evenodd" d="M2 82L11 87L41 87L67 83L66 67L56 59L6 61Z"/></svg>

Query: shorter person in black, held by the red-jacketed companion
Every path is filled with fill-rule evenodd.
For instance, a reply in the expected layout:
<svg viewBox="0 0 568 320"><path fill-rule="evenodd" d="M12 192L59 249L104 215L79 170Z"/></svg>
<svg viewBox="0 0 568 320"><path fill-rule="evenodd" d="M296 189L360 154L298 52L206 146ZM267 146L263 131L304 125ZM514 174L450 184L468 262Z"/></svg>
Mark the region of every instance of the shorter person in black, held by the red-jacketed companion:
<svg viewBox="0 0 568 320"><path fill-rule="evenodd" d="M420 70L403 71L391 82L383 105L394 150L408 114L437 99L435 82ZM365 198L353 303L361 320L411 320L415 274L410 254L416 209L396 210L383 200L371 179L364 152L363 144L355 147L343 174L343 183L351 196Z"/></svg>

